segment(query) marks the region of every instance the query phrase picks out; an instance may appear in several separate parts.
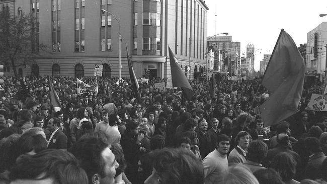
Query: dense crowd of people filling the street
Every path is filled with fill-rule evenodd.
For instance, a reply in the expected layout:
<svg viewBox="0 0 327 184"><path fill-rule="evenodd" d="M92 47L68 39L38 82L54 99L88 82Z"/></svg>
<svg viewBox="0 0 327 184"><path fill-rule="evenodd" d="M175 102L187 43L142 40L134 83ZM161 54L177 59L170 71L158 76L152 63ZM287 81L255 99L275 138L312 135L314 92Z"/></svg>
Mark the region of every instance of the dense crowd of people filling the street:
<svg viewBox="0 0 327 184"><path fill-rule="evenodd" d="M190 80L194 96L99 78L7 77L0 99L0 183L327 183L327 115L298 112L265 126L261 79ZM82 78L92 84L94 77ZM128 83L130 81L125 79ZM61 110L51 105L49 83Z"/></svg>

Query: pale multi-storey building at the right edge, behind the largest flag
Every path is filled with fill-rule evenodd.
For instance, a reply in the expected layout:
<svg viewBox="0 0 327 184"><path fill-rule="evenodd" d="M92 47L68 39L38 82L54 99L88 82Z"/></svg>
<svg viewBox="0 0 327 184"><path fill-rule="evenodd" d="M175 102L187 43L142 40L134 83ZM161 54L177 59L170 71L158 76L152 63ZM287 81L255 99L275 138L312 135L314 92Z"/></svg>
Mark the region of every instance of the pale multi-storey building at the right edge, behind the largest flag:
<svg viewBox="0 0 327 184"><path fill-rule="evenodd" d="M327 68L327 22L308 32L306 38L306 80L310 83L317 79L324 82Z"/></svg>

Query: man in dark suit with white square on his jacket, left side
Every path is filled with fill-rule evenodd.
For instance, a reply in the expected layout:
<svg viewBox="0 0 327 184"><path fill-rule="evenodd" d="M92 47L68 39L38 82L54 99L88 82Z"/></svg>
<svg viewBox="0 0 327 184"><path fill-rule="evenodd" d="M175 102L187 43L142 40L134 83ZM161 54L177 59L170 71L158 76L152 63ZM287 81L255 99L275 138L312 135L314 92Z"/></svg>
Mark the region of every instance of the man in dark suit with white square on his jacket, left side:
<svg viewBox="0 0 327 184"><path fill-rule="evenodd" d="M58 118L51 118L48 122L48 130L51 132L48 140L49 149L67 149L67 136L59 130L60 120Z"/></svg>

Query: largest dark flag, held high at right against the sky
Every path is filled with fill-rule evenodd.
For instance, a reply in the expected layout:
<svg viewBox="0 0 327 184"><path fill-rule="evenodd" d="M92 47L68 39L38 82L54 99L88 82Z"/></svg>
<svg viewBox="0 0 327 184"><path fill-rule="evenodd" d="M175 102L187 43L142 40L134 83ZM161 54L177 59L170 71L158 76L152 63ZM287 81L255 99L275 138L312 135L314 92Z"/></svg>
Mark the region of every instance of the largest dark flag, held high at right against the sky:
<svg viewBox="0 0 327 184"><path fill-rule="evenodd" d="M262 79L262 85L272 94L260 106L265 126L277 124L296 113L304 69L303 57L291 36L282 29Z"/></svg>

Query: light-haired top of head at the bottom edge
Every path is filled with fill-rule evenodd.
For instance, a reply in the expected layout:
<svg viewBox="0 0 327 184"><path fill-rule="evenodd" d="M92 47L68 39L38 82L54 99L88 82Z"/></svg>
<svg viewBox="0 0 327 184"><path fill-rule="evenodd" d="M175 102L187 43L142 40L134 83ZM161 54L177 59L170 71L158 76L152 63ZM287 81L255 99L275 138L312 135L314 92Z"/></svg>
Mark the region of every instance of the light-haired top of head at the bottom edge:
<svg viewBox="0 0 327 184"><path fill-rule="evenodd" d="M259 184L248 167L241 164L231 165L217 177L214 183L221 184Z"/></svg>

